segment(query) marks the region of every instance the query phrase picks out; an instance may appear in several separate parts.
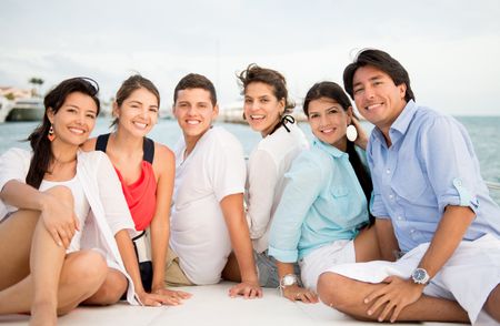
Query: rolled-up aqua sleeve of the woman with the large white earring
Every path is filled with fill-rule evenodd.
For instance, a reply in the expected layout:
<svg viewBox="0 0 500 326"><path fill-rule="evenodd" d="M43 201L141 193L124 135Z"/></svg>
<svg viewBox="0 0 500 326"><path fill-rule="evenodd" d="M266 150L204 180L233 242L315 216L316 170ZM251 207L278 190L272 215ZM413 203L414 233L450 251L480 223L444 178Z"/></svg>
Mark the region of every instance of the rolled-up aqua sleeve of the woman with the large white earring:
<svg viewBox="0 0 500 326"><path fill-rule="evenodd" d="M327 180L321 164L306 151L284 174L286 186L270 230L269 252L283 263L297 262L301 226Z"/></svg>

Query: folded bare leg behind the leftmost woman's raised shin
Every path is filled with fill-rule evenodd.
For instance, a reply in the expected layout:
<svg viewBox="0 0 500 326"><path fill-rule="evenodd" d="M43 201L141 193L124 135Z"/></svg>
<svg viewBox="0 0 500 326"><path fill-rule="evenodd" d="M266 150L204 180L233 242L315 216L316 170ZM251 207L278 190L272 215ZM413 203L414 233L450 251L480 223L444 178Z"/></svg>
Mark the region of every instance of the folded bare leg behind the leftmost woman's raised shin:
<svg viewBox="0 0 500 326"><path fill-rule="evenodd" d="M80 251L67 255L58 289L58 314L63 315L98 291L108 266L101 254ZM0 315L30 312L34 288L31 275L0 292Z"/></svg>

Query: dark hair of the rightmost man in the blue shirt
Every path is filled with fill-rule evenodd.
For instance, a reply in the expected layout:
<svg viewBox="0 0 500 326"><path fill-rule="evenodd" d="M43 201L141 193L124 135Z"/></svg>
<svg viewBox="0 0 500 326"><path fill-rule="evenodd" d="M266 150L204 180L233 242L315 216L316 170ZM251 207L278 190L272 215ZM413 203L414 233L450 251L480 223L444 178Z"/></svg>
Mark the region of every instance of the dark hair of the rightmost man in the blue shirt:
<svg viewBox="0 0 500 326"><path fill-rule="evenodd" d="M413 91L410 86L410 77L408 71L399 63L398 60L389 55L389 53L381 50L368 49L361 50L356 57L354 61L350 63L343 70L343 86L346 92L349 93L351 99L354 99L352 80L358 68L364 65L372 65L384 73L389 74L396 85L406 84L407 92L404 94L404 100L409 102L414 101Z"/></svg>

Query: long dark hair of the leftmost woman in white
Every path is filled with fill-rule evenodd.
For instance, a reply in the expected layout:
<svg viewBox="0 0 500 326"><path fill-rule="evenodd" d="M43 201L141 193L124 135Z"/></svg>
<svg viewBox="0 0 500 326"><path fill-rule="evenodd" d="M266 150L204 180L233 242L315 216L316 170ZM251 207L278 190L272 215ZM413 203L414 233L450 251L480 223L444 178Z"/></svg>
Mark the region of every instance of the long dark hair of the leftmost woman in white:
<svg viewBox="0 0 500 326"><path fill-rule="evenodd" d="M83 93L92 98L97 106L97 113L100 111L100 102L98 98L99 85L90 78L71 78L62 81L52 89L43 99L46 113L42 123L28 136L33 156L31 157L30 169L26 176L26 183L38 189L43 180L43 175L49 170L49 164L53 160L50 147L50 141L47 137L51 123L47 115L48 110L57 113L64 104L66 99L71 93Z"/></svg>

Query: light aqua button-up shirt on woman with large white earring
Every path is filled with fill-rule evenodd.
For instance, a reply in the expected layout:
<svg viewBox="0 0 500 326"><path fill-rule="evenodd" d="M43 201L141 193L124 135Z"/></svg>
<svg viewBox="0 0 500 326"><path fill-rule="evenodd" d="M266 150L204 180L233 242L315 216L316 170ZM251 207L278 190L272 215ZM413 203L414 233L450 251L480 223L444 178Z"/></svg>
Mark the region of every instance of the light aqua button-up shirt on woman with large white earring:
<svg viewBox="0 0 500 326"><path fill-rule="evenodd" d="M368 222L364 193L349 155L319 140L284 174L270 231L269 255L293 263L336 240L351 240Z"/></svg>

